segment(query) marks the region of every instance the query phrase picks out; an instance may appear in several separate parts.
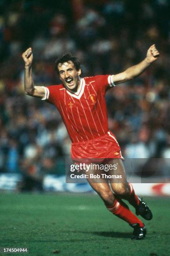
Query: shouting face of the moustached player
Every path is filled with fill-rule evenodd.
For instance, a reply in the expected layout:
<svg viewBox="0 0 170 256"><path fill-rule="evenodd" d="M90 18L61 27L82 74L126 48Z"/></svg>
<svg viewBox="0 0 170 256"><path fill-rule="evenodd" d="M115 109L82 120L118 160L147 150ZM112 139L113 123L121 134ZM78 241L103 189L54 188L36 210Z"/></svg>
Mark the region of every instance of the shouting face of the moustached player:
<svg viewBox="0 0 170 256"><path fill-rule="evenodd" d="M76 70L72 61L58 64L60 79L68 90L77 91L80 83L81 69Z"/></svg>

